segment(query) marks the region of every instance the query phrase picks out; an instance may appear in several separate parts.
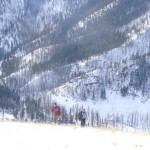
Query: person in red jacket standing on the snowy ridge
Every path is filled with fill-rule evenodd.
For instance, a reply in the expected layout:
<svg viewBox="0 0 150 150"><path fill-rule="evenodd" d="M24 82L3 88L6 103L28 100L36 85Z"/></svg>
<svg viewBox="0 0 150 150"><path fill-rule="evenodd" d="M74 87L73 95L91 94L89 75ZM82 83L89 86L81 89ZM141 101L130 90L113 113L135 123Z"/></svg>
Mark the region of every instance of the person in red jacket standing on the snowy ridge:
<svg viewBox="0 0 150 150"><path fill-rule="evenodd" d="M60 107L57 105L57 103L54 103L51 111L54 115L54 122L58 123L58 119L60 118Z"/></svg>

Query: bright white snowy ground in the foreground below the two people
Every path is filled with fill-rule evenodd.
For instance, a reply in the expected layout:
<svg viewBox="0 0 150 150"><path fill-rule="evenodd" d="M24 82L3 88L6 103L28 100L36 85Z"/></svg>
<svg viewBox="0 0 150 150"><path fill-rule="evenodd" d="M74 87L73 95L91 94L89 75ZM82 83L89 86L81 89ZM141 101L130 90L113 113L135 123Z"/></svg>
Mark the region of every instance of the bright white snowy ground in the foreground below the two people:
<svg viewBox="0 0 150 150"><path fill-rule="evenodd" d="M148 150L148 133L52 124L0 122L4 150Z"/></svg>

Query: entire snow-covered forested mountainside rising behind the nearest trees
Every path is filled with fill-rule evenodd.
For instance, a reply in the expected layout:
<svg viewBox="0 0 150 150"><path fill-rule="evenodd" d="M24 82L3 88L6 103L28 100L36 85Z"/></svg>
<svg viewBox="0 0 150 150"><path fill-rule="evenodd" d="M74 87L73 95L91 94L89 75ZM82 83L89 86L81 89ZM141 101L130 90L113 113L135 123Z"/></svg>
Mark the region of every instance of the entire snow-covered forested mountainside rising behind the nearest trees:
<svg viewBox="0 0 150 150"><path fill-rule="evenodd" d="M15 93L20 118L49 114L52 101L147 114L149 41L149 0L0 0L0 90Z"/></svg>

